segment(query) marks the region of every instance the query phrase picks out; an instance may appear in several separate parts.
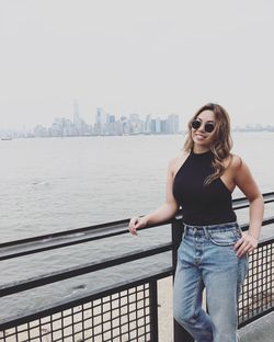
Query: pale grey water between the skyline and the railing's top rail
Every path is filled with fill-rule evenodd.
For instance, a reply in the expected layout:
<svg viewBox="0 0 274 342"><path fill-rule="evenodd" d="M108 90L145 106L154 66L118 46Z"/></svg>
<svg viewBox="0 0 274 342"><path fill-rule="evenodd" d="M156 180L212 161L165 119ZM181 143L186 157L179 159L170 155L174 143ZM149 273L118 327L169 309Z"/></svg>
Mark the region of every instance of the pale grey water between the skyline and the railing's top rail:
<svg viewBox="0 0 274 342"><path fill-rule="evenodd" d="M274 134L233 138L260 189L273 190ZM164 201L168 162L182 145L181 135L0 140L1 241L153 209Z"/></svg>

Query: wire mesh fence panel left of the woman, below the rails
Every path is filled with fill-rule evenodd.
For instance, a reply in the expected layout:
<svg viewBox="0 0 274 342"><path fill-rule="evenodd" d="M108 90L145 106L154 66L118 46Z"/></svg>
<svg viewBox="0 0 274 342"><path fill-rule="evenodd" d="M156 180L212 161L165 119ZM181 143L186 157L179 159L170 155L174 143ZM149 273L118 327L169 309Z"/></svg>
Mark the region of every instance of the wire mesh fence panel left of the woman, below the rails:
<svg viewBox="0 0 274 342"><path fill-rule="evenodd" d="M150 284L0 332L1 342L152 341Z"/></svg>

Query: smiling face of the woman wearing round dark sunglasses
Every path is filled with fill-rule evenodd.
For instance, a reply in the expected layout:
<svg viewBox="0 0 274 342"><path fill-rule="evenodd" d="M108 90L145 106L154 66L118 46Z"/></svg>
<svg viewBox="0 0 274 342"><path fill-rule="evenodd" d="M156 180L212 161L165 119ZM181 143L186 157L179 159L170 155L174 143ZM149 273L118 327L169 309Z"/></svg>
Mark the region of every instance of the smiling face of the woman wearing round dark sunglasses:
<svg viewBox="0 0 274 342"><path fill-rule="evenodd" d="M197 115L196 121L199 122L199 127L197 127L198 123L195 123L195 128L192 128L192 139L194 142L194 148L199 150L207 150L209 149L213 141L214 126L216 124L215 114L212 111L204 111ZM212 126L213 132L207 132L210 130L209 126Z"/></svg>

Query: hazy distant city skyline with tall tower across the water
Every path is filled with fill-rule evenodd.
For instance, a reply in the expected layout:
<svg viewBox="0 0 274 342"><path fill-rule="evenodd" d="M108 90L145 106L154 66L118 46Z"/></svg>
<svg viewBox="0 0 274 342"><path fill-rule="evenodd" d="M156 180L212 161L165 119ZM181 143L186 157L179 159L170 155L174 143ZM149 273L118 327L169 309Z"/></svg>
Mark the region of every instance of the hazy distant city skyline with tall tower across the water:
<svg viewBox="0 0 274 342"><path fill-rule="evenodd" d="M107 113L103 107L96 109L95 122L87 123L80 115L79 103L73 102L72 118L56 117L48 125L36 123L32 128L2 129L0 138L33 138L33 137L75 137L75 136L122 136L122 135L153 135L153 134L181 134L186 127L180 126L180 115L169 114L165 117L152 116L141 117L138 113L126 115L114 115ZM244 126L232 126L233 132L274 132L273 125L249 124Z"/></svg>

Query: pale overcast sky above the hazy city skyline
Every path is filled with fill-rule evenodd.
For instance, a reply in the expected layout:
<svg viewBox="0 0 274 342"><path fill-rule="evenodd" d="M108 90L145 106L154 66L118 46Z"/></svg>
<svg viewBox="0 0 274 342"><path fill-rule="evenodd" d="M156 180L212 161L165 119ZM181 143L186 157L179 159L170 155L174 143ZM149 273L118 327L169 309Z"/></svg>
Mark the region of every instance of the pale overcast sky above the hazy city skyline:
<svg viewBox="0 0 274 342"><path fill-rule="evenodd" d="M274 125L272 0L0 0L0 128L207 102Z"/></svg>

